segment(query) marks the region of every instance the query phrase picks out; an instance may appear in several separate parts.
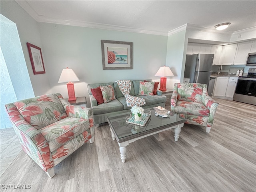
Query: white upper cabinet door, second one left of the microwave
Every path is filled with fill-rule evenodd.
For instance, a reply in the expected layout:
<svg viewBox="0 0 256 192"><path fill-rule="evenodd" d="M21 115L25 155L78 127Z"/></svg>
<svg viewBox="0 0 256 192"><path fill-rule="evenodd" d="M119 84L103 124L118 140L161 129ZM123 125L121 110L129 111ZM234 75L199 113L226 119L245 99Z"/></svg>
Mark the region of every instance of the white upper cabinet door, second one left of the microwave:
<svg viewBox="0 0 256 192"><path fill-rule="evenodd" d="M222 47L222 54L221 54L221 58L220 58L221 65L233 65L234 64L236 48L237 48L237 43L230 44L230 45L224 45Z"/></svg>

